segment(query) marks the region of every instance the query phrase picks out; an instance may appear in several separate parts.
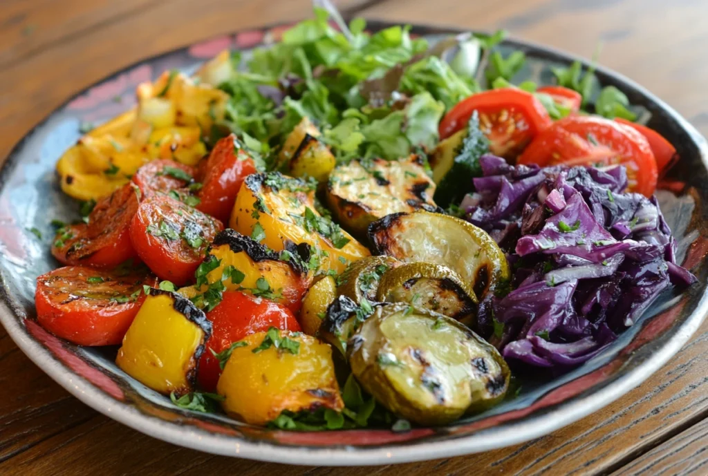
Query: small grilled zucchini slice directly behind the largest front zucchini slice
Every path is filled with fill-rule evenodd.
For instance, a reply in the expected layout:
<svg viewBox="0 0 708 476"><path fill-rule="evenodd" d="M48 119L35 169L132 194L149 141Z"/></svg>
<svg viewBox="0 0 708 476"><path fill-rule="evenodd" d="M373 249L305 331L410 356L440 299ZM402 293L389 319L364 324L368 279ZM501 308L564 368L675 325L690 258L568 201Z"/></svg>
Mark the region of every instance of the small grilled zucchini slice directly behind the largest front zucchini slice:
<svg viewBox="0 0 708 476"><path fill-rule="evenodd" d="M387 271L377 301L409 303L462 320L474 313L476 297L452 269L433 263L407 263Z"/></svg>

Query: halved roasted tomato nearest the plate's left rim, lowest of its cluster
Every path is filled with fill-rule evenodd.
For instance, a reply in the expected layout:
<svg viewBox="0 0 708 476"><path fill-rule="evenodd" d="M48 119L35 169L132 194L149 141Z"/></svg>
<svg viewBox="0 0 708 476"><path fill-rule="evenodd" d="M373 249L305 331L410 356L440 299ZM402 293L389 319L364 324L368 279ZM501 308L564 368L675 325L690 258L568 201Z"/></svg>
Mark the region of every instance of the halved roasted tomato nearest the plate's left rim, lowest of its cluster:
<svg viewBox="0 0 708 476"><path fill-rule="evenodd" d="M49 332L79 345L120 344L145 295L148 274L121 274L67 266L37 278L37 320Z"/></svg>

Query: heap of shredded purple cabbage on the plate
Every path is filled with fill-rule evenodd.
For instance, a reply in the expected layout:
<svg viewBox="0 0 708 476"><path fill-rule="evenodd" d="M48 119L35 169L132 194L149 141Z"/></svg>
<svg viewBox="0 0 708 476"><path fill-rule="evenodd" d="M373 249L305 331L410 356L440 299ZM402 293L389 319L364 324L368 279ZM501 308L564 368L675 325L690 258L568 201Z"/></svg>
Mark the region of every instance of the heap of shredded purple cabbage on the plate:
<svg viewBox="0 0 708 476"><path fill-rule="evenodd" d="M491 155L480 163L476 192L460 207L513 269L513 291L486 296L477 321L505 358L560 370L581 364L670 284L696 281L675 262L656 197L624 193L623 166L510 166Z"/></svg>

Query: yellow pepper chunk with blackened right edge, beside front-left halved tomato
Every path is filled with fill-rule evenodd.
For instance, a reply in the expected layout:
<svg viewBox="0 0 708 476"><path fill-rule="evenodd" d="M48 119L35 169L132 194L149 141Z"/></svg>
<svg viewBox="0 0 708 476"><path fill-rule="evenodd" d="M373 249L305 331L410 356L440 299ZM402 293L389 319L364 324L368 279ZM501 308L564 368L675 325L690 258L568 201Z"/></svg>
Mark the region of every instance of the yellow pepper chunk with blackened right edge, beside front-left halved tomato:
<svg viewBox="0 0 708 476"><path fill-rule="evenodd" d="M115 363L159 393L195 389L199 358L212 332L202 310L176 293L150 289L123 337Z"/></svg>

